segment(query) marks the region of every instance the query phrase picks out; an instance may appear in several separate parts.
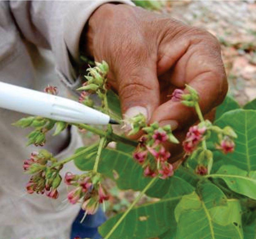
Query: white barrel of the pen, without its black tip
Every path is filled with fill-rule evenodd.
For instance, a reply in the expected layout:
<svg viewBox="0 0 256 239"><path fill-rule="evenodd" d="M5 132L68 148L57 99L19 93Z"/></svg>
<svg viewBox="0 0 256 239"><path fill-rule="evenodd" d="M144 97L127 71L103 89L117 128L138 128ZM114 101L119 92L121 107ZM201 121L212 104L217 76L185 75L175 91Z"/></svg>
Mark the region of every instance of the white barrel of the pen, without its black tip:
<svg viewBox="0 0 256 239"><path fill-rule="evenodd" d="M0 107L70 123L107 125L110 120L107 114L76 101L3 82Z"/></svg>

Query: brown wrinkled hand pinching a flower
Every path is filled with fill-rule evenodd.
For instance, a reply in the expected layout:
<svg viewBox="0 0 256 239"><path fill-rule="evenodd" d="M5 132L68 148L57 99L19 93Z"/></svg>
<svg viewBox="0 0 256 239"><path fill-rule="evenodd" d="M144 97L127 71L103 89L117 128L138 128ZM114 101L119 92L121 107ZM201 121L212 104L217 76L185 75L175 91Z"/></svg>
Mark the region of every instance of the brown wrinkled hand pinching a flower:
<svg viewBox="0 0 256 239"><path fill-rule="evenodd" d="M145 107L149 123L171 124L178 139L197 117L194 109L170 101L174 89L194 87L204 114L226 95L220 45L205 30L139 7L107 3L90 17L86 42L89 55L109 64L108 81L119 93L123 114L132 116L131 107ZM170 150L172 156L181 152L177 146Z"/></svg>

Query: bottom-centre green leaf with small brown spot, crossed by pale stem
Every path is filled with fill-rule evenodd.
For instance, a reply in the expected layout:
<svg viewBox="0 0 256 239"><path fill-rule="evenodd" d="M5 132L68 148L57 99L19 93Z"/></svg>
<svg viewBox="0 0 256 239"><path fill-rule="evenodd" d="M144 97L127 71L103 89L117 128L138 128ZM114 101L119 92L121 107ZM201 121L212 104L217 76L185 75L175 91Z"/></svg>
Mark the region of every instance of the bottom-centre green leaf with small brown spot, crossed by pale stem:
<svg viewBox="0 0 256 239"><path fill-rule="evenodd" d="M170 229L175 232L174 208L182 195L191 193L193 187L187 187L186 181L177 181L175 177L169 180L166 186L168 193L160 201L132 209L110 238L148 239L158 237ZM149 191L155 190L155 188L153 186ZM112 217L100 226L99 232L103 237L106 236L121 215L122 213Z"/></svg>

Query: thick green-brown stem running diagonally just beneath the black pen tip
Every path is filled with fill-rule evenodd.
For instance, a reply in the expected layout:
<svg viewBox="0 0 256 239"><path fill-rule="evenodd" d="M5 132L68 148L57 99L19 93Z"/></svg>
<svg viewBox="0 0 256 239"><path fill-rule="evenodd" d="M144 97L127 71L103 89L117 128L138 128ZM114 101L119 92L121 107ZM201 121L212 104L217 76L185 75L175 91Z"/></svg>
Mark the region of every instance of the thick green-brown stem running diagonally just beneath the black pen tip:
<svg viewBox="0 0 256 239"><path fill-rule="evenodd" d="M117 135L115 133L108 134L107 132L104 132L103 130L94 128L90 125L85 125L85 124L73 124L73 125L81 128L81 129L86 129L88 131L91 131L91 132L99 135L100 137L106 137L106 139L110 140L110 141L122 142L122 143L125 143L125 144L128 144L128 145L134 146L134 147L136 147L137 144L138 144L134 140L127 139L127 138L122 137L120 135Z"/></svg>

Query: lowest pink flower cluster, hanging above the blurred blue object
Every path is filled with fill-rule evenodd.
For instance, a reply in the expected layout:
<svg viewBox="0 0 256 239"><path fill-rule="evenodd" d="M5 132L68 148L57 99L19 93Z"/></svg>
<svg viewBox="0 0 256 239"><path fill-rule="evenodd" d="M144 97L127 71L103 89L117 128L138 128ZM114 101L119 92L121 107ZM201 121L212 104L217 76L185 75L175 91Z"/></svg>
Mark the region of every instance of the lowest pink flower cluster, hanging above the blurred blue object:
<svg viewBox="0 0 256 239"><path fill-rule="evenodd" d="M109 198L100 181L98 174L91 176L88 172L83 175L75 175L67 172L64 182L74 187L68 193L69 202L71 204L82 202L82 209L86 214L95 214L99 205Z"/></svg>

